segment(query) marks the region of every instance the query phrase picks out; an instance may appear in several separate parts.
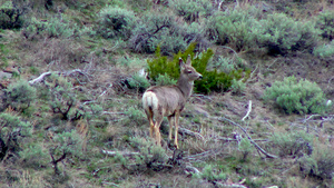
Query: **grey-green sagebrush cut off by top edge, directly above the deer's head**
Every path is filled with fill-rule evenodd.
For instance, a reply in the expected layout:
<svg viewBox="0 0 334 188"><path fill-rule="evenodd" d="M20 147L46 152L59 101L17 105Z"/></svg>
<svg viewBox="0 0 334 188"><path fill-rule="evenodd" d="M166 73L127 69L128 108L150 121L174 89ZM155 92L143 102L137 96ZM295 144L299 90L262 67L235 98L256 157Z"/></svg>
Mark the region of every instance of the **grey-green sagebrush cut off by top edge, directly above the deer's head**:
<svg viewBox="0 0 334 188"><path fill-rule="evenodd" d="M209 0L169 0L169 7L177 16L189 22L198 20L202 16L208 16L213 11Z"/></svg>

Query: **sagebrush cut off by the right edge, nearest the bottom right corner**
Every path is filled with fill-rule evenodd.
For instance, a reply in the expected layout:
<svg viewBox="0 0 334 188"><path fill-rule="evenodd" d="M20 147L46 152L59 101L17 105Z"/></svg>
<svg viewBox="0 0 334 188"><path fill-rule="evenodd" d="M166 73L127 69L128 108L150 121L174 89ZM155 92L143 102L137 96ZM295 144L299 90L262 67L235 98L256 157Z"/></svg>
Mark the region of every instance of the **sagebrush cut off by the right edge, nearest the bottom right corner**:
<svg viewBox="0 0 334 188"><path fill-rule="evenodd" d="M330 147L318 146L311 156L298 160L302 175L322 180L334 178L334 151Z"/></svg>

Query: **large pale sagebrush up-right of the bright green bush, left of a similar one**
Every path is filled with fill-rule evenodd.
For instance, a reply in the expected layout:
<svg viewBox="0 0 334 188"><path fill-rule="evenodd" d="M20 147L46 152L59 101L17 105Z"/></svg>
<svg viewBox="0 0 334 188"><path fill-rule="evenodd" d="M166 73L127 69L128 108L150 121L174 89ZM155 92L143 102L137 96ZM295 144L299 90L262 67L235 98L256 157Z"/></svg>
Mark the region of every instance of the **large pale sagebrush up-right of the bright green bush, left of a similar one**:
<svg viewBox="0 0 334 188"><path fill-rule="evenodd" d="M207 36L218 44L228 44L237 51L256 46L257 21L247 11L235 9L217 12L206 20Z"/></svg>

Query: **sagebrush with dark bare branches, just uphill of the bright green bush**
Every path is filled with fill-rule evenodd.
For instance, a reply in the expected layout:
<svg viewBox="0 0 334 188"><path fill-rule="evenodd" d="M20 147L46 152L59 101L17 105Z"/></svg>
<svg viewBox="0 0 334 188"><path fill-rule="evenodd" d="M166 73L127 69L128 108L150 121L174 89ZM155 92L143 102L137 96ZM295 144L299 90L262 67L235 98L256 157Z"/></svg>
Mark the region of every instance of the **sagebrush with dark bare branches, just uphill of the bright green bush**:
<svg viewBox="0 0 334 188"><path fill-rule="evenodd" d="M174 16L153 12L145 14L134 29L130 48L135 52L153 53L160 46L163 55L176 53L186 48Z"/></svg>

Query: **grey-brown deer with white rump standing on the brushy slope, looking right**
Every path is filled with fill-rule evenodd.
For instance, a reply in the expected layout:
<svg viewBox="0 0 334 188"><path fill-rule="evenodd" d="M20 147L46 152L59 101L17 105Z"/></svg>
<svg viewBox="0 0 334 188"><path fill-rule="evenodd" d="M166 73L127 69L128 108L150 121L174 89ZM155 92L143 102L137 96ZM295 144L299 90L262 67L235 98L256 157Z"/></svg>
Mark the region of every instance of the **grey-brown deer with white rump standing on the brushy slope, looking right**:
<svg viewBox="0 0 334 188"><path fill-rule="evenodd" d="M173 127L175 127L174 145L176 149L179 149L177 135L180 112L193 92L194 81L203 78L191 66L190 59L188 56L185 63L179 58L180 76L176 85L154 86L143 95L143 107L150 126L149 135L158 146L161 146L160 125L164 117L167 117L169 122L168 146L171 140Z"/></svg>

